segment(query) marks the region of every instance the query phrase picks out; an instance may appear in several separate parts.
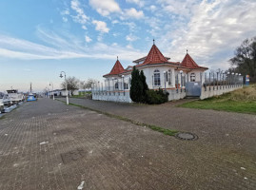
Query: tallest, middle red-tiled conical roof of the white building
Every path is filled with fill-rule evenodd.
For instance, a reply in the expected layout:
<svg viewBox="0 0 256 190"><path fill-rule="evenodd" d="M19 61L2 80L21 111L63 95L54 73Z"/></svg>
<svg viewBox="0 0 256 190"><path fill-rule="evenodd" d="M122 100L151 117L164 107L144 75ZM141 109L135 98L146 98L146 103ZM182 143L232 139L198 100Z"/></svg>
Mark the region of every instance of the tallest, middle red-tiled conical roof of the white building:
<svg viewBox="0 0 256 190"><path fill-rule="evenodd" d="M148 56L142 65L148 64L160 64L160 63L167 63L167 58L161 53L161 51L153 45L148 52Z"/></svg>

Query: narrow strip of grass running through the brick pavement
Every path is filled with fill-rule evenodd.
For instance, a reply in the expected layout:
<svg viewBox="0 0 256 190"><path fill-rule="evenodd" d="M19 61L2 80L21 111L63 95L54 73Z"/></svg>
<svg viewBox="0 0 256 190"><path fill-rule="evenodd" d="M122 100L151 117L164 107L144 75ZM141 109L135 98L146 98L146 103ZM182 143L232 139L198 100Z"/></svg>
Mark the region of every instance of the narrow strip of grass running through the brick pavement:
<svg viewBox="0 0 256 190"><path fill-rule="evenodd" d="M56 100L58 100L58 99L56 99ZM61 101L61 100L58 100L58 101L66 103L65 101ZM98 109L93 109L93 108L90 108L90 107L87 107L87 106L84 106L84 105L81 105L81 104L69 103L69 105L78 106L78 107L81 107L81 108L84 108L84 109L88 109L90 111L94 111L94 112L99 113L99 114L104 114L104 115L106 115L110 118L114 118L114 119L117 119L117 120L125 121L125 122L132 123L132 124L136 124L136 125L139 125L139 126L146 126L146 127L150 128L154 131L158 131L158 132L163 133L163 134L168 135L168 136L174 136L176 133L179 132L177 130L170 130L170 129L163 128L161 126L157 126L157 125L154 125L154 124L136 122L136 121L130 120L130 119L128 119L126 117L123 117L123 116L114 115L114 114L111 114L111 113L108 113L108 112L105 112L105 111L101 111L101 110L98 110Z"/></svg>

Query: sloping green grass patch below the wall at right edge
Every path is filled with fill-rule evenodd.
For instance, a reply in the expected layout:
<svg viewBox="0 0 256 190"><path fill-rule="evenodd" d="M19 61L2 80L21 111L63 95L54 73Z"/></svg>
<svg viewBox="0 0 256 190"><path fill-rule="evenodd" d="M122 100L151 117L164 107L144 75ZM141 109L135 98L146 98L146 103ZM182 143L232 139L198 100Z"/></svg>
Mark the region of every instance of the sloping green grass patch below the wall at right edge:
<svg viewBox="0 0 256 190"><path fill-rule="evenodd" d="M256 85L246 86L221 96L178 106L256 114Z"/></svg>

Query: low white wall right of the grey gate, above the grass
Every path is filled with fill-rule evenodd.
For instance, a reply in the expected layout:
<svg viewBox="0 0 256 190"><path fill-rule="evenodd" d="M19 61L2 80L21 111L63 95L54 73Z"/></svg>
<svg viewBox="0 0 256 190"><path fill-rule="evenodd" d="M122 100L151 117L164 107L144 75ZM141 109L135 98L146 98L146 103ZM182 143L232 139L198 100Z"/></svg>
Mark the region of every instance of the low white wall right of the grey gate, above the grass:
<svg viewBox="0 0 256 190"><path fill-rule="evenodd" d="M215 85L202 87L200 99L204 100L209 97L222 95L227 92L242 88L243 85Z"/></svg>

